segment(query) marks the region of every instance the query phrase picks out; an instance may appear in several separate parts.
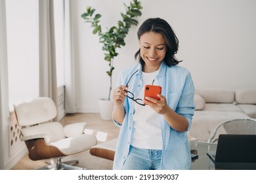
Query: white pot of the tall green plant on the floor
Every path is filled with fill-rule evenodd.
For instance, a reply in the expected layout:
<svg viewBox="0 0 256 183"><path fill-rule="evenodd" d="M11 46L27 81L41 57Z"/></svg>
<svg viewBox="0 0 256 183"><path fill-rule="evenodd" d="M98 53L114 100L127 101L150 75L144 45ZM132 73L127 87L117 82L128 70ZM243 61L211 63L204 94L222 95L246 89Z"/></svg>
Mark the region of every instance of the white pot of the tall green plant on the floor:
<svg viewBox="0 0 256 183"><path fill-rule="evenodd" d="M102 118L102 120L112 120L114 101L108 101L108 99L99 99L98 108L100 110L100 118Z"/></svg>

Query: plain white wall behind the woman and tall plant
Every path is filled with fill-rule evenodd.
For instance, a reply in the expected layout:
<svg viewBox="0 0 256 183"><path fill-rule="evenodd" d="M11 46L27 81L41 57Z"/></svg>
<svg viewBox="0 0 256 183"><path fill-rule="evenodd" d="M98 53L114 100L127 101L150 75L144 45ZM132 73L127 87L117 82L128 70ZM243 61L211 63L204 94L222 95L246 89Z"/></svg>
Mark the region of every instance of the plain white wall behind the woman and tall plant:
<svg viewBox="0 0 256 183"><path fill-rule="evenodd" d="M141 0L142 16L160 17L173 27L180 41L177 58L194 79L196 88L256 89L256 1L253 0ZM102 14L102 28L116 25L123 3L129 0L72 1L78 112L97 112L98 98L107 97L108 65L97 35L81 14L87 6ZM135 63L139 49L137 27L125 38L126 46L114 61L113 82L119 72Z"/></svg>

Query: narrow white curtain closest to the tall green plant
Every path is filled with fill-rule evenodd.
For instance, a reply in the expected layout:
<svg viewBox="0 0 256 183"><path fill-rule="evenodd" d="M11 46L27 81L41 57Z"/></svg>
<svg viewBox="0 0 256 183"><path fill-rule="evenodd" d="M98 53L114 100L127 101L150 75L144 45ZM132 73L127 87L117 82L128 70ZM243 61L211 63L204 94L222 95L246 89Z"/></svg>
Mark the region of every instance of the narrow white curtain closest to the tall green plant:
<svg viewBox="0 0 256 183"><path fill-rule="evenodd" d="M75 59L72 32L71 0L64 0L64 82L65 112L76 112L75 107Z"/></svg>

